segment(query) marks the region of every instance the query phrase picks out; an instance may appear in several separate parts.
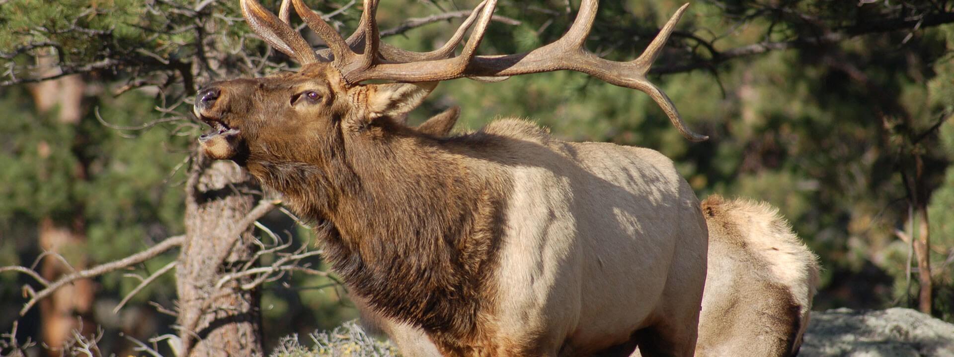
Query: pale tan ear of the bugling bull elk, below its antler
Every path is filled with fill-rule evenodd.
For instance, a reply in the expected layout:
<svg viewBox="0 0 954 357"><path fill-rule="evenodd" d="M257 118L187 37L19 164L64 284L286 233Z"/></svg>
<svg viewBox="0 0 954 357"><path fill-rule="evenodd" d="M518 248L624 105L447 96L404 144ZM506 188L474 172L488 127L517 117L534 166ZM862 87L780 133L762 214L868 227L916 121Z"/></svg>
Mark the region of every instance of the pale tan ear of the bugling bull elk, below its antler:
<svg viewBox="0 0 954 357"><path fill-rule="evenodd" d="M399 117L424 102L438 82L368 85L367 110L371 119Z"/></svg>

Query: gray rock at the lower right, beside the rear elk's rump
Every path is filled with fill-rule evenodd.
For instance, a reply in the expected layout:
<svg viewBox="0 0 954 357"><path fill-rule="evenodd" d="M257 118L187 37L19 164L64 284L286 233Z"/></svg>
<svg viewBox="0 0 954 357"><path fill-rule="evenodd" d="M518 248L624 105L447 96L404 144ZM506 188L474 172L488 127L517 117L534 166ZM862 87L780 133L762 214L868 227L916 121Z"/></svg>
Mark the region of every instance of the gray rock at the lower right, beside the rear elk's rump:
<svg viewBox="0 0 954 357"><path fill-rule="evenodd" d="M812 311L802 357L954 357L954 325L910 308Z"/></svg>

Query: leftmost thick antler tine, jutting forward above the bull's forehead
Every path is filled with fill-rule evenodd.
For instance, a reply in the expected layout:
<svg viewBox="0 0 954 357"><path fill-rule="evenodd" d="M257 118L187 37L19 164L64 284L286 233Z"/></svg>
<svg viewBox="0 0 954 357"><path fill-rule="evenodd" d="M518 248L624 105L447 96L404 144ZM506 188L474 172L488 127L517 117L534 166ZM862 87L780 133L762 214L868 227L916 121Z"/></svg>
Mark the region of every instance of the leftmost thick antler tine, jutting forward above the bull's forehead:
<svg viewBox="0 0 954 357"><path fill-rule="evenodd" d="M301 34L283 23L274 13L265 10L256 0L240 0L242 16L249 27L276 50L296 58L302 65L318 62L315 51Z"/></svg>

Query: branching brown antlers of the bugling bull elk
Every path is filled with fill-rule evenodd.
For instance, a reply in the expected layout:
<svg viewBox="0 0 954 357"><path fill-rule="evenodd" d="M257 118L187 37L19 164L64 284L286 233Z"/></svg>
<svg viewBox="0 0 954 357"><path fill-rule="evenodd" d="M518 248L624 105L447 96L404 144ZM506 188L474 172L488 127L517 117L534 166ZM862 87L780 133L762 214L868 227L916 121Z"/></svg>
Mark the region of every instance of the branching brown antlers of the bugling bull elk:
<svg viewBox="0 0 954 357"><path fill-rule="evenodd" d="M243 12L246 2L255 2L255 0L241 1ZM615 86L646 92L666 112L675 129L679 130L687 139L703 141L709 138L706 135L700 135L687 129L679 116L679 112L675 109L673 101L669 99L665 92L646 78L646 73L653 65L653 60L666 44L675 24L679 22L689 4L683 5L675 11L673 17L663 26L662 30L659 30L659 34L638 58L629 62L616 62L600 58L584 48L596 17L597 0L583 0L570 30L555 42L529 52L505 55L476 55L475 52L477 47L480 46L484 32L487 30L487 25L493 15L493 10L496 8L496 0L485 0L475 8L467 21L454 34L452 41L448 41L441 50L425 53L400 50L381 42L378 25L375 21L378 0L365 0L359 29L347 41L322 20L320 15L308 9L301 0L291 0L291 3L299 16L308 24L308 27L318 33L327 44L328 50L334 56L332 65L341 71L342 77L349 83L360 83L371 79L396 82L432 82L465 77L492 81L492 78L506 79L506 77L520 74L563 69L576 70ZM280 12L287 22L287 5L282 4ZM458 56L446 58L461 41L464 32L475 21L474 15L478 13L476 25L464 46L464 50ZM278 19L275 15L271 15L271 18ZM285 24L281 25L288 28ZM253 28L259 31L259 28L262 27L259 25L257 28L256 25L253 25ZM272 30L272 32L276 32L276 30ZM263 36L266 37L267 41L267 34ZM301 39L301 36L299 38ZM301 41L303 42L303 40ZM273 44L273 46L275 45ZM298 44L288 46L294 48L294 51L301 48ZM287 49L288 46L285 50L291 50ZM358 50L362 50L361 53ZM314 56L314 52L310 49L308 51ZM286 51L286 53L288 52ZM301 55L301 57L308 56ZM308 60L308 58L304 59Z"/></svg>

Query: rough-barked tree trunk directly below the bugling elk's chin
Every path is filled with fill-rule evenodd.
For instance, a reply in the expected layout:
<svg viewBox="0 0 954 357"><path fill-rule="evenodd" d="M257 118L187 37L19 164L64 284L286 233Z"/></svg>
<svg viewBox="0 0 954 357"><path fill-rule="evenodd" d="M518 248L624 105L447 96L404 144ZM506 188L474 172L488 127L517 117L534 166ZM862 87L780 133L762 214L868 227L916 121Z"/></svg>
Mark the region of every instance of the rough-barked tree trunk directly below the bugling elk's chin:
<svg viewBox="0 0 954 357"><path fill-rule="evenodd" d="M264 354L257 288L249 278L216 288L255 253L254 237L239 222L255 206L257 184L233 163L199 157L186 187L186 241L176 268L179 339L186 356Z"/></svg>

